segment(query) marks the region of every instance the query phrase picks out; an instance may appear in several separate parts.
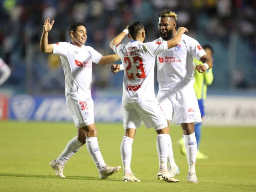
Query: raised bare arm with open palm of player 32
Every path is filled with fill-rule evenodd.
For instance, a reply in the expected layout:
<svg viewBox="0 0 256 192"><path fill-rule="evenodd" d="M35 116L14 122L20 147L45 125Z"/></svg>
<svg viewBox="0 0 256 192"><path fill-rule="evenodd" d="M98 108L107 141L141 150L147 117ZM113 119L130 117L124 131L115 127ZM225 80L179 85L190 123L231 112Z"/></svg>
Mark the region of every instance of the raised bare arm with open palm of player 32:
<svg viewBox="0 0 256 192"><path fill-rule="evenodd" d="M52 44L48 44L48 32L52 29L52 25L54 20L50 23L50 18L47 18L44 21L43 34L40 41L40 51L44 53L52 53L53 46Z"/></svg>

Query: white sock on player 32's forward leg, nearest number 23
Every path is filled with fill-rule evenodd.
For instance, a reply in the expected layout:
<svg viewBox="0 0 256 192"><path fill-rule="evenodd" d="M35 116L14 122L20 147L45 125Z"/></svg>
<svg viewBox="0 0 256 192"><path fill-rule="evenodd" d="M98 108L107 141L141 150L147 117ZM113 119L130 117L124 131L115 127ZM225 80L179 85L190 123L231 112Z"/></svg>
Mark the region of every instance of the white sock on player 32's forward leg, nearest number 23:
<svg viewBox="0 0 256 192"><path fill-rule="evenodd" d="M88 137L85 141L87 150L90 153L96 167L100 171L102 167L106 167L107 165L105 164L104 159L100 153L98 139L97 137Z"/></svg>

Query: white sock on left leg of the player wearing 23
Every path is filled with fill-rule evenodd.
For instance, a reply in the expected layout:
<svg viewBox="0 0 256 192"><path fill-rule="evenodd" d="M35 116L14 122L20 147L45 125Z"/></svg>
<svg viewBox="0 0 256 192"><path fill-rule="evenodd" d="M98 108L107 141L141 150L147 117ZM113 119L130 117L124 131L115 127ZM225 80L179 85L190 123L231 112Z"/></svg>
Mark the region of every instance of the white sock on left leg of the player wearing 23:
<svg viewBox="0 0 256 192"><path fill-rule="evenodd" d="M132 170L131 170L132 142L133 142L132 138L124 136L120 146L122 163L124 167L124 174L132 173Z"/></svg>

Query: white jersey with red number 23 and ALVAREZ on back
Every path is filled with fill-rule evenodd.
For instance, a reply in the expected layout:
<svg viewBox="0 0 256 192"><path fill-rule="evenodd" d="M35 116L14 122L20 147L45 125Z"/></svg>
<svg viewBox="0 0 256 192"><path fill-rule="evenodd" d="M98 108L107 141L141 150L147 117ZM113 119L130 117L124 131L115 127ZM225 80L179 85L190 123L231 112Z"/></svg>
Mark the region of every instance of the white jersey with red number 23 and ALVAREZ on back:
<svg viewBox="0 0 256 192"><path fill-rule="evenodd" d="M124 65L123 98L127 103L155 100L154 66L156 56L167 50L167 42L130 41L116 44L114 52Z"/></svg>

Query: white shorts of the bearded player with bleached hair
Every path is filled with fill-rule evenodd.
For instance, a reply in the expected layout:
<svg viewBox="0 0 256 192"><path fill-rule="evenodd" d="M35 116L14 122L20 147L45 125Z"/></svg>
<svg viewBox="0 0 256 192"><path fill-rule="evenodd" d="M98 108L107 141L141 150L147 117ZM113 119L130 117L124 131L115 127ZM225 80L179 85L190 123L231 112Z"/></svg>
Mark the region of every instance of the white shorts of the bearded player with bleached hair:
<svg viewBox="0 0 256 192"><path fill-rule="evenodd" d="M202 122L193 84L178 92L159 90L156 100L169 121L175 113L176 124Z"/></svg>

